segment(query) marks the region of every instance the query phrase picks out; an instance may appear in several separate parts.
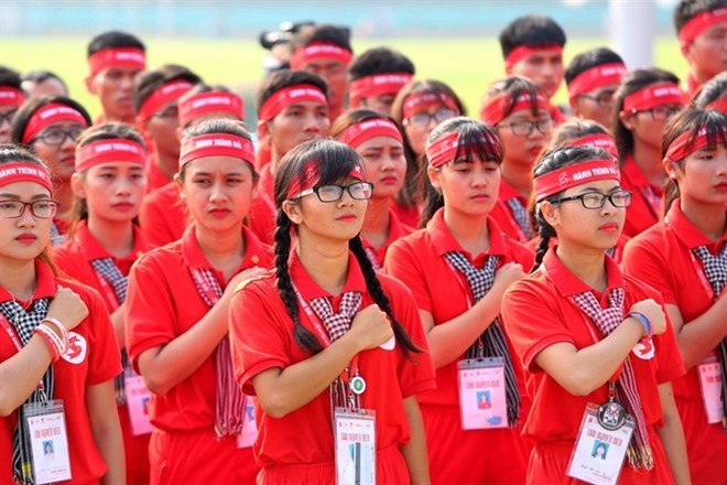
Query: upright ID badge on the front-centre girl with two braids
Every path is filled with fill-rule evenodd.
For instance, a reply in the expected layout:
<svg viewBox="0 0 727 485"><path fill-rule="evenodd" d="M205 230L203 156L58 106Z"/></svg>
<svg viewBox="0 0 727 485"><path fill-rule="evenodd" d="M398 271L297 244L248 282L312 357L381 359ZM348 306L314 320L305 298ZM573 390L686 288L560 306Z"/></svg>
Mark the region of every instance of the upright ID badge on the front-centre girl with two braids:
<svg viewBox="0 0 727 485"><path fill-rule="evenodd" d="M336 408L336 484L376 485L376 411Z"/></svg>

